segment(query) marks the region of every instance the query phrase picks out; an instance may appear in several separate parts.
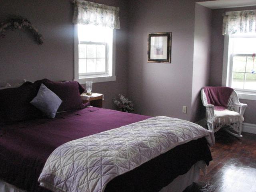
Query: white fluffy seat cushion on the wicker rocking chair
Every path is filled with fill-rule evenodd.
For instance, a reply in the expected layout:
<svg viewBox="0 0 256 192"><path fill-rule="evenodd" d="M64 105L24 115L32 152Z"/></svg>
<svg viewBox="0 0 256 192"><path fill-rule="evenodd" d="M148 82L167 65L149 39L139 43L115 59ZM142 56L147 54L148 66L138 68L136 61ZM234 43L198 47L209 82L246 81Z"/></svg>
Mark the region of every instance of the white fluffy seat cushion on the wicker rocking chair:
<svg viewBox="0 0 256 192"><path fill-rule="evenodd" d="M214 122L216 123L230 123L244 121L244 117L241 116L238 112L230 110L214 110Z"/></svg>

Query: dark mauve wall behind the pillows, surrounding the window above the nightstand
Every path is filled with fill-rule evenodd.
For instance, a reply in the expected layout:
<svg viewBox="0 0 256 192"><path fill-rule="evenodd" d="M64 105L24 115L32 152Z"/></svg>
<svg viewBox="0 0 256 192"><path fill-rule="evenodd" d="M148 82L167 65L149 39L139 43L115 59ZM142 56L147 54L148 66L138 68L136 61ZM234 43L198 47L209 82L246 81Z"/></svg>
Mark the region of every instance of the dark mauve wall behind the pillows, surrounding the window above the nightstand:
<svg viewBox="0 0 256 192"><path fill-rule="evenodd" d="M121 29L116 31L116 81L95 83L94 92L104 94L104 107L113 108L112 98L127 94L127 1L91 0L120 7ZM0 38L0 86L22 79L35 81L73 80L74 27L70 0L1 0L0 22L11 14L21 15L32 22L44 37L41 46L31 34L8 31Z"/></svg>

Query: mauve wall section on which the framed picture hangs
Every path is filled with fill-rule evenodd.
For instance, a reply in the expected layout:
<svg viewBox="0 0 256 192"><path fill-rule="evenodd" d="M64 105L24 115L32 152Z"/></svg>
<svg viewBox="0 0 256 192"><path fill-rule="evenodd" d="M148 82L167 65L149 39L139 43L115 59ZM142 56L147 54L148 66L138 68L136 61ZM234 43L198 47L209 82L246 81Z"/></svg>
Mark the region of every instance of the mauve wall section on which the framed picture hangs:
<svg viewBox="0 0 256 192"><path fill-rule="evenodd" d="M190 120L195 1L131 2L129 98L140 114ZM147 36L150 32L172 32L171 64L147 62ZM188 106L187 114L182 113L182 106Z"/></svg>

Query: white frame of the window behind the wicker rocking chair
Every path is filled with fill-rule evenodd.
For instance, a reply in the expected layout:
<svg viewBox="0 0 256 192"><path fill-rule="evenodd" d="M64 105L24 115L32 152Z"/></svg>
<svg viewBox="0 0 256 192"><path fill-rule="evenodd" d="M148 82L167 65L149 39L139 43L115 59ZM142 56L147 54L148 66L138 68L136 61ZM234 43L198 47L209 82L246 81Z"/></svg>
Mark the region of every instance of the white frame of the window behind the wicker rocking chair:
<svg viewBox="0 0 256 192"><path fill-rule="evenodd" d="M222 86L230 86L232 82L232 64L233 56L250 55L250 54L231 54L233 46L231 38L256 38L256 35L224 35L224 52L223 52L223 68L222 68ZM256 91L235 88L240 99L256 100Z"/></svg>

